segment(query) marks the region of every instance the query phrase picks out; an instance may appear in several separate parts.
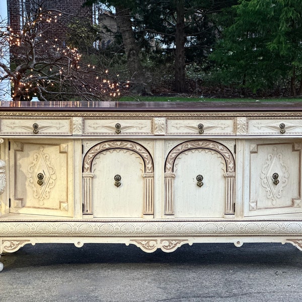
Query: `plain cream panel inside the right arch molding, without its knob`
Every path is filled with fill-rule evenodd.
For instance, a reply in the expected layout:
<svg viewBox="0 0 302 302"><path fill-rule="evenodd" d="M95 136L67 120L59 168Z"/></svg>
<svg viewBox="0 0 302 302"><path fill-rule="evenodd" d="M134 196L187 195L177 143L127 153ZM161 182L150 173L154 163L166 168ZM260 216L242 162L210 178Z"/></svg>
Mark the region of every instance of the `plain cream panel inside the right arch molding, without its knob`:
<svg viewBox="0 0 302 302"><path fill-rule="evenodd" d="M175 161L175 217L223 217L225 162L217 152L193 149ZM202 185L197 185L202 175Z"/></svg>

